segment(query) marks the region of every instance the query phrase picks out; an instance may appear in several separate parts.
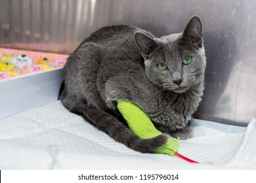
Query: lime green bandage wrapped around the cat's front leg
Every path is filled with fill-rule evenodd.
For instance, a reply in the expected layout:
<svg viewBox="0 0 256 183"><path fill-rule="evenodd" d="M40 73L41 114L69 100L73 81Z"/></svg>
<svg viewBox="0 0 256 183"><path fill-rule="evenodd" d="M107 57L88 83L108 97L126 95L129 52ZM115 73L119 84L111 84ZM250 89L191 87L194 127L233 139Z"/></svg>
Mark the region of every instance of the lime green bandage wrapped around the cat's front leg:
<svg viewBox="0 0 256 183"><path fill-rule="evenodd" d="M133 133L142 139L151 139L161 135L150 118L134 103L129 101L117 101L117 108L125 118L129 128ZM166 144L157 148L154 153L173 155L179 149L179 139L169 137Z"/></svg>

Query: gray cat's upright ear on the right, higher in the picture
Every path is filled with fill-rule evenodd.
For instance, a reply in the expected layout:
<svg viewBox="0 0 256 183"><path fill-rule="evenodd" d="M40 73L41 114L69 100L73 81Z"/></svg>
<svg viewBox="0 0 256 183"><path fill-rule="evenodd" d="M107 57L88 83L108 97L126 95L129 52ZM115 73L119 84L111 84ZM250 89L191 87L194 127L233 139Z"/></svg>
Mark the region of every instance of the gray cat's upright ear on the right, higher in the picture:
<svg viewBox="0 0 256 183"><path fill-rule="evenodd" d="M202 47L203 44L203 25L198 16L190 18L188 25L182 33L184 41L190 42L192 45Z"/></svg>

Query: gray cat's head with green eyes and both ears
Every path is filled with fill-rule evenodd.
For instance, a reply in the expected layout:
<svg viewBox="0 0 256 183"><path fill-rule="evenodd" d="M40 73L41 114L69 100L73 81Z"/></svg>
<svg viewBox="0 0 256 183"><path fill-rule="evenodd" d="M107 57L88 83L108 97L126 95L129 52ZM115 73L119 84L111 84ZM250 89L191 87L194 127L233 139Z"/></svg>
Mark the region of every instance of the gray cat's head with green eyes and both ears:
<svg viewBox="0 0 256 183"><path fill-rule="evenodd" d="M135 33L146 75L157 86L177 93L203 82L205 54L202 22L193 16L182 33L160 39Z"/></svg>

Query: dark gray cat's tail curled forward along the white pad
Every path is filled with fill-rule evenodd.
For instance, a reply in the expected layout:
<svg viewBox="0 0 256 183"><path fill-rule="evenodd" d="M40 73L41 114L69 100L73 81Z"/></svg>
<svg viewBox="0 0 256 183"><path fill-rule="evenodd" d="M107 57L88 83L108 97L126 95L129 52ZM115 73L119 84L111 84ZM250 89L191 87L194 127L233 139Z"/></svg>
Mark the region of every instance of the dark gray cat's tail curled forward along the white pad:
<svg viewBox="0 0 256 183"><path fill-rule="evenodd" d="M121 142L133 150L142 153L152 153L156 148L163 146L163 144L167 142L168 137L163 134L152 139L141 139L115 116L97 108L87 107L84 103L62 99L62 104L68 108L70 112L83 116L85 120L108 133L115 141Z"/></svg>

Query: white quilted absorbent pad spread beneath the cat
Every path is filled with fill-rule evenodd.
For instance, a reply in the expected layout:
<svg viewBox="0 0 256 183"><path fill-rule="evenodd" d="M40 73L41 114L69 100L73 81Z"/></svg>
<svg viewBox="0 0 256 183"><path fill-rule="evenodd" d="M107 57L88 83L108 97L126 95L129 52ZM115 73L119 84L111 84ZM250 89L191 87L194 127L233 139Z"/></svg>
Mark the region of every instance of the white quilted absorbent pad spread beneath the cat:
<svg viewBox="0 0 256 183"><path fill-rule="evenodd" d="M60 101L0 120L0 169L256 169L256 120L247 127L193 120L176 156L141 154L68 112ZM211 162L211 163L207 163Z"/></svg>

